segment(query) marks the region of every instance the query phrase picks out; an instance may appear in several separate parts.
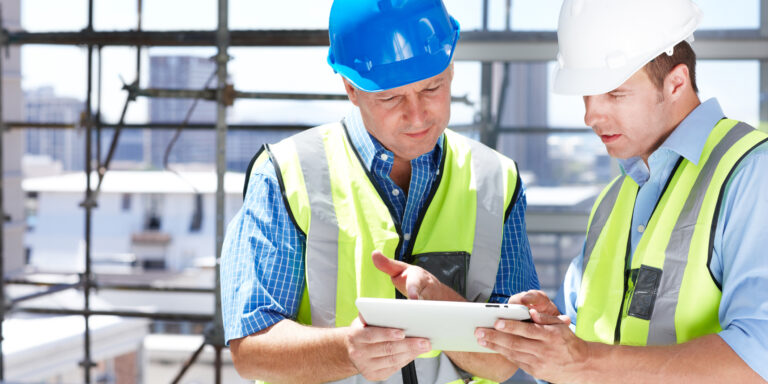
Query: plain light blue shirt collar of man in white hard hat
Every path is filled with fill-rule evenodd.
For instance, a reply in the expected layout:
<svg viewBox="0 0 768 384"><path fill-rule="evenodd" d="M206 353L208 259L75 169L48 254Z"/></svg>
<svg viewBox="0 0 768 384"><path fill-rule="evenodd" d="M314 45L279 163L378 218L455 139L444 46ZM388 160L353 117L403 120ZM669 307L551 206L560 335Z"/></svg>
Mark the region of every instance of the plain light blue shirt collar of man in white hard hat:
<svg viewBox="0 0 768 384"><path fill-rule="evenodd" d="M693 164L698 164L704 144L707 142L710 132L717 122L725 115L717 99L712 98L699 104L667 137L664 143L651 154L651 158L657 153L672 152L682 156ZM649 158L649 163L651 162ZM648 180L648 167L639 156L629 159L618 159L624 173L629 175L638 184L642 185Z"/></svg>

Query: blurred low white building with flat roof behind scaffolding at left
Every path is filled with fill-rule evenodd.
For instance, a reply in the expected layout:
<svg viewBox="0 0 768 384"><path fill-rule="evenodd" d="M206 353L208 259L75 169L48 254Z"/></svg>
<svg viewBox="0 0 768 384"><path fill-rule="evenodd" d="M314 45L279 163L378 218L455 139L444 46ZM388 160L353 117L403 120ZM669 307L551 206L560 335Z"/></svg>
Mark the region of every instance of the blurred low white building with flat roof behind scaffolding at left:
<svg viewBox="0 0 768 384"><path fill-rule="evenodd" d="M242 205L244 174L225 177L225 222ZM97 177L91 178L95 188ZM25 243L38 270L84 269L85 174L26 179L31 212ZM182 271L213 266L216 174L168 171L109 171L93 211L95 271L110 266Z"/></svg>

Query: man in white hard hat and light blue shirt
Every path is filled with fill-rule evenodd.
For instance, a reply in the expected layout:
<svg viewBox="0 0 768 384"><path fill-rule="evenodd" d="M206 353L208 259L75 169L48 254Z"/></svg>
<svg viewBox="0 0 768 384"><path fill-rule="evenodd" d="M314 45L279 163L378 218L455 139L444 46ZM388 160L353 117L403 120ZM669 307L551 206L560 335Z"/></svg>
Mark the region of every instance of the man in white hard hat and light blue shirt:
<svg viewBox="0 0 768 384"><path fill-rule="evenodd" d="M700 20L690 0L563 3L555 91L584 97L622 172L555 302L512 297L537 324L476 334L536 377L768 380L768 135L699 100Z"/></svg>

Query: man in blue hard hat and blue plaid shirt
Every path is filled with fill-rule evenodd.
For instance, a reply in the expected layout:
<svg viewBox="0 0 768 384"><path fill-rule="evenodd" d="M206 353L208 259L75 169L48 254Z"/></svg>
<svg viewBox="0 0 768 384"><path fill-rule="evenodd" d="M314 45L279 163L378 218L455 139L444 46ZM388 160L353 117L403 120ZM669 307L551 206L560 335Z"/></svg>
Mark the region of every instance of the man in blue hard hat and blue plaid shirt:
<svg viewBox="0 0 768 384"><path fill-rule="evenodd" d="M329 33L355 108L254 158L222 253L235 368L268 382L506 380L516 368L500 355L433 351L355 307L539 287L515 163L446 130L458 23L440 0L336 0Z"/></svg>

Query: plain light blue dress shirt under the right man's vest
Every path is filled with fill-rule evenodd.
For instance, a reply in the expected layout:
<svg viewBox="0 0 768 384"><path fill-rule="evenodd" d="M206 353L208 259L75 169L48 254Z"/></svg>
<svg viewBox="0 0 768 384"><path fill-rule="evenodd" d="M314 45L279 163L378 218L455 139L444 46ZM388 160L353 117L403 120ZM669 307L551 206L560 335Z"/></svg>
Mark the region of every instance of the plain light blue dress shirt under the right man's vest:
<svg viewBox="0 0 768 384"><path fill-rule="evenodd" d="M724 118L710 99L693 110L648 158L619 160L622 171L640 186L632 216L631 250L643 236L656 201L680 156L697 163L704 143ZM576 324L582 253L563 281L555 304ZM715 229L710 271L722 285L720 337L763 379L768 380L768 143L737 166L723 198Z"/></svg>

